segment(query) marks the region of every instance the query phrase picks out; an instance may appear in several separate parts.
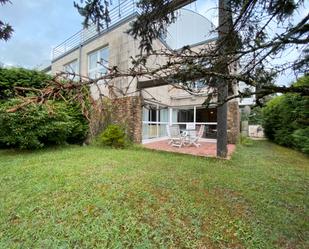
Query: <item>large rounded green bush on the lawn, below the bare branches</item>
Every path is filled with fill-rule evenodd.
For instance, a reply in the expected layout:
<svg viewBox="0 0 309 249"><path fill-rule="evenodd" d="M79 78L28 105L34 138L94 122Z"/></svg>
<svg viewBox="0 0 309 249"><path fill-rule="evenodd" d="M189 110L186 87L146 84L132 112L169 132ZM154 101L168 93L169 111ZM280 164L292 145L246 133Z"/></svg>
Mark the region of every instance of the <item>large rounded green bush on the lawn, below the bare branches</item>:
<svg viewBox="0 0 309 249"><path fill-rule="evenodd" d="M48 105L31 104L14 113L6 111L19 103L20 100L10 99L0 105L1 147L37 149L85 140L88 124L78 107L50 101Z"/></svg>

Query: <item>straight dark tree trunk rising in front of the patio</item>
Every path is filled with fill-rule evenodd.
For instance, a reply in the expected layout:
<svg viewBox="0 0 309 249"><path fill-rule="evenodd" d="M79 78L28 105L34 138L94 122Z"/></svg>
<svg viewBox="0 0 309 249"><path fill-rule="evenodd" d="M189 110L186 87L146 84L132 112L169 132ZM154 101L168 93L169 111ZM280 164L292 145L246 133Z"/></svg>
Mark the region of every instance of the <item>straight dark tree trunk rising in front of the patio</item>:
<svg viewBox="0 0 309 249"><path fill-rule="evenodd" d="M229 49L228 34L232 27L232 14L230 8L230 0L219 0L219 54L218 70L220 73L227 74L229 72L227 58L225 54ZM217 157L227 157L227 103L228 97L228 81L225 79L218 80L218 103L217 108Z"/></svg>

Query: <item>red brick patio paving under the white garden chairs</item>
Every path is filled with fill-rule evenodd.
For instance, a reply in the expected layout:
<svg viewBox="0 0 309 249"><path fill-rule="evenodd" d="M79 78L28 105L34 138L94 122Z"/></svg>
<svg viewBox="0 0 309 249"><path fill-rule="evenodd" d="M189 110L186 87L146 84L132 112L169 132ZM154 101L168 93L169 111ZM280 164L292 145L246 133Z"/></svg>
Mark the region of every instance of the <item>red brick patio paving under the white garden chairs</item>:
<svg viewBox="0 0 309 249"><path fill-rule="evenodd" d="M168 144L168 140L156 141L143 144L145 148L160 151L169 151L175 153L189 154L194 156L216 157L217 144L210 142L199 142L200 147L184 146L181 148L173 147ZM235 144L228 145L228 156L230 157L235 150Z"/></svg>

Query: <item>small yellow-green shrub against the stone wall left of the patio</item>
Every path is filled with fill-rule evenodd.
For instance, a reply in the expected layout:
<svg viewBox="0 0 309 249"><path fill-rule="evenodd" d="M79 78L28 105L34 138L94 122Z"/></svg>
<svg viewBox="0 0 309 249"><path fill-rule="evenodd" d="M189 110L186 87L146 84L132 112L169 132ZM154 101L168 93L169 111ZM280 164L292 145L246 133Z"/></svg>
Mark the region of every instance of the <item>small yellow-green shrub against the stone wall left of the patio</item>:
<svg viewBox="0 0 309 249"><path fill-rule="evenodd" d="M99 135L99 143L113 148L124 148L128 145L128 139L123 128L118 125L109 125Z"/></svg>

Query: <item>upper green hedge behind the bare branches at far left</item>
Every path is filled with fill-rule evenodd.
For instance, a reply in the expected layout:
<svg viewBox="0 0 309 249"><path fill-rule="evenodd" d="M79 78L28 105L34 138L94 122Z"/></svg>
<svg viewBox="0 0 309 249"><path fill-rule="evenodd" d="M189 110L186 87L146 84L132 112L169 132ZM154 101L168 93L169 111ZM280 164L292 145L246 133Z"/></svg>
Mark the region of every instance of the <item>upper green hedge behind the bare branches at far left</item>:
<svg viewBox="0 0 309 249"><path fill-rule="evenodd" d="M0 68L0 100L15 97L14 87L43 88L51 76L24 68Z"/></svg>

